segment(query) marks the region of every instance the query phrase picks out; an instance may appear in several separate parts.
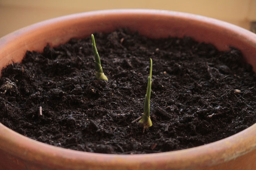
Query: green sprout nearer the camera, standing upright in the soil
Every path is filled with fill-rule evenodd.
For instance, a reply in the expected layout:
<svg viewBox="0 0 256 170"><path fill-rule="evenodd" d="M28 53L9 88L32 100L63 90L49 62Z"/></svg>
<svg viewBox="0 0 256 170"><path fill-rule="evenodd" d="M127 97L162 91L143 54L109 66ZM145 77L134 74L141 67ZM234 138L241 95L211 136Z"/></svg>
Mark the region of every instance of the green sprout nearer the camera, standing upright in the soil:
<svg viewBox="0 0 256 170"><path fill-rule="evenodd" d="M144 104L144 111L143 116L139 123L143 123L144 129L152 126L152 122L149 116L150 108L149 108L149 101L150 101L150 93L151 93L151 77L152 77L152 59L150 59L150 72L148 76L148 86L147 86L147 93L145 96L145 104ZM143 131L144 131L143 129Z"/></svg>

